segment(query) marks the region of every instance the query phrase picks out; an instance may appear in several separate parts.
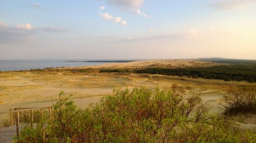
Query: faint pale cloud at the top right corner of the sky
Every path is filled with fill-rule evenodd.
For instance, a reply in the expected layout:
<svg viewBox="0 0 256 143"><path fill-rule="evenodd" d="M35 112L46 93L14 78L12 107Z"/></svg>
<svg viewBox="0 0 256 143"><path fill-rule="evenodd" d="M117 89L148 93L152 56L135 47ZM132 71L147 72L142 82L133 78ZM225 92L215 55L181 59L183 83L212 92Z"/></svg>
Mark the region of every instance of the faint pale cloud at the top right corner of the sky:
<svg viewBox="0 0 256 143"><path fill-rule="evenodd" d="M253 3L256 3L256 0L215 0L210 3L210 7L221 10L242 10Z"/></svg>

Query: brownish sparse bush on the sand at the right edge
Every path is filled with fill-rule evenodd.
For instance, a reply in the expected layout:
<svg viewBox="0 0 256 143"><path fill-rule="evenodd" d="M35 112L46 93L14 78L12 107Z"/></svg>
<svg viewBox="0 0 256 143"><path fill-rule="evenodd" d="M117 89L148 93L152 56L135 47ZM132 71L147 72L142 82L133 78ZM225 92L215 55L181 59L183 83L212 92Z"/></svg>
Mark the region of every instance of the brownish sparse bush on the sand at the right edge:
<svg viewBox="0 0 256 143"><path fill-rule="evenodd" d="M223 96L226 113L238 113L240 111L253 111L256 113L256 87L240 87L231 89Z"/></svg>

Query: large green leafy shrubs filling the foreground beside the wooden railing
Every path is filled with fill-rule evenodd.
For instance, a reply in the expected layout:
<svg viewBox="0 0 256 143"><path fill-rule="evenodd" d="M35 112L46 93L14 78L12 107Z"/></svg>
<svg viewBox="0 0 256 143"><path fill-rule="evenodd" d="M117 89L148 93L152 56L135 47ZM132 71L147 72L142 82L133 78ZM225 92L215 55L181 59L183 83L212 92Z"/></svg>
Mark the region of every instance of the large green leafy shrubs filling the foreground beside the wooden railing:
<svg viewBox="0 0 256 143"><path fill-rule="evenodd" d="M230 132L222 116L209 115L199 95L170 89L114 90L80 109L67 98L54 104L54 120L26 126L16 142L253 142L255 133Z"/></svg>

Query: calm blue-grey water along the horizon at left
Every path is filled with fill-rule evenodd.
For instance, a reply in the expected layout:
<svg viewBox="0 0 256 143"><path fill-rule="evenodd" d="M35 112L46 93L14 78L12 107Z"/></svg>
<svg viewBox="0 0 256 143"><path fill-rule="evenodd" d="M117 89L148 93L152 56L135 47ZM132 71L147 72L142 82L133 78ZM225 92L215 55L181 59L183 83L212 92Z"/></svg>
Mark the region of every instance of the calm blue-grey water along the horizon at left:
<svg viewBox="0 0 256 143"><path fill-rule="evenodd" d="M44 69L55 67L75 67L75 66L90 66L100 65L100 62L64 62L68 60L0 60L0 71L9 70L30 70ZM73 60L73 61L88 61L88 60Z"/></svg>

